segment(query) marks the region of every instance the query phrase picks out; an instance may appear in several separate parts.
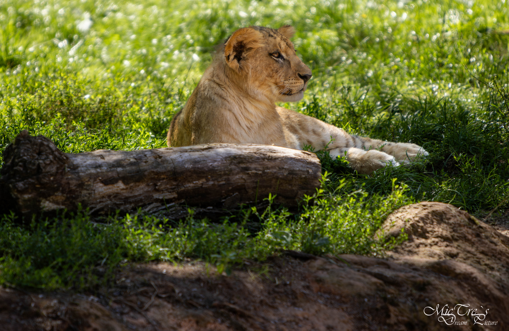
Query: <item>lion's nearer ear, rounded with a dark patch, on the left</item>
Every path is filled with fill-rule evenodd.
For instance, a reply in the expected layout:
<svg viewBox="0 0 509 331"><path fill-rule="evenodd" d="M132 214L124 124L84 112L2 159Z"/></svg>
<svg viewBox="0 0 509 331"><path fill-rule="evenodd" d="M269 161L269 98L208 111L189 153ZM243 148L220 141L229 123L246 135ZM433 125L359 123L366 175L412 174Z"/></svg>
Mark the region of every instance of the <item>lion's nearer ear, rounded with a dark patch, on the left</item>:
<svg viewBox="0 0 509 331"><path fill-rule="evenodd" d="M224 43L224 58L228 66L239 71L248 51L263 46L263 35L250 27L238 29Z"/></svg>

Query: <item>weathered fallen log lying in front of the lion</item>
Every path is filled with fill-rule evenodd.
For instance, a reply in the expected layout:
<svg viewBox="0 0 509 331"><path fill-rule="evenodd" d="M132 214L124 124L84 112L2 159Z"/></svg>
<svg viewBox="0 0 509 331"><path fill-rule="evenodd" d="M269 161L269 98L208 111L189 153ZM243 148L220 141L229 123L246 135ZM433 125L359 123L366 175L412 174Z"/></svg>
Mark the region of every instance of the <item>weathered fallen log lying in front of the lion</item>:
<svg viewBox="0 0 509 331"><path fill-rule="evenodd" d="M23 216L75 211L107 214L171 204L235 207L261 201L295 206L320 186L321 166L308 152L256 144L65 154L48 138L25 130L4 151L0 170L3 209Z"/></svg>

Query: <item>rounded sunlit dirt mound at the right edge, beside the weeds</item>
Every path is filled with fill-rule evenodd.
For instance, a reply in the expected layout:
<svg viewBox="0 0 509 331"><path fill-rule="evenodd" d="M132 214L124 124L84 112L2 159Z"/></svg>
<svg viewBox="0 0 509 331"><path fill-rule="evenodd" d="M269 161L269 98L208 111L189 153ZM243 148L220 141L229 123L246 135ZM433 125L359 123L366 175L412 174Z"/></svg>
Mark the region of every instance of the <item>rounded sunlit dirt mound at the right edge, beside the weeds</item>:
<svg viewBox="0 0 509 331"><path fill-rule="evenodd" d="M391 254L396 259L437 272L443 269L439 265L452 265L444 261L455 261L483 270L493 280L509 279L509 237L450 204L421 202L401 207L382 229L386 236L398 235L402 229L408 234L408 241Z"/></svg>

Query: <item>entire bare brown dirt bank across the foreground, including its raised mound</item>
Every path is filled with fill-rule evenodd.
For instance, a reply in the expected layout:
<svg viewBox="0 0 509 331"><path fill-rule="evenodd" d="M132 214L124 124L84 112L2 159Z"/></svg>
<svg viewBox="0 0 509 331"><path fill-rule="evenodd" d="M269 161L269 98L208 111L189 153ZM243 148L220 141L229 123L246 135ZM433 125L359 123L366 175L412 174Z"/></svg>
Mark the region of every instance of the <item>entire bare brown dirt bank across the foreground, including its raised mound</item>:
<svg viewBox="0 0 509 331"><path fill-rule="evenodd" d="M402 229L409 240L388 259L289 252L228 277L202 262L131 265L87 296L4 288L0 329L509 329L508 237L443 203L405 206L383 226Z"/></svg>

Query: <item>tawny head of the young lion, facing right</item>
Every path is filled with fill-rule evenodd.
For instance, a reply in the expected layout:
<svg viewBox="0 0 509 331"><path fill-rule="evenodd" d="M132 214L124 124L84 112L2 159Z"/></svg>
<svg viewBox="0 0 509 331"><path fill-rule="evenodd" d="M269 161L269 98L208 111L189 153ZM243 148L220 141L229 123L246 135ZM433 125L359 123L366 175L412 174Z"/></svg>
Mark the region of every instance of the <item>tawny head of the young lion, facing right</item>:
<svg viewBox="0 0 509 331"><path fill-rule="evenodd" d="M251 26L238 29L224 43L227 70L242 81L250 95L272 101L299 101L311 70L295 53L290 38L295 29Z"/></svg>

